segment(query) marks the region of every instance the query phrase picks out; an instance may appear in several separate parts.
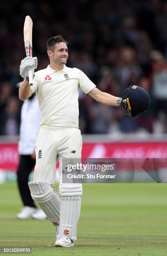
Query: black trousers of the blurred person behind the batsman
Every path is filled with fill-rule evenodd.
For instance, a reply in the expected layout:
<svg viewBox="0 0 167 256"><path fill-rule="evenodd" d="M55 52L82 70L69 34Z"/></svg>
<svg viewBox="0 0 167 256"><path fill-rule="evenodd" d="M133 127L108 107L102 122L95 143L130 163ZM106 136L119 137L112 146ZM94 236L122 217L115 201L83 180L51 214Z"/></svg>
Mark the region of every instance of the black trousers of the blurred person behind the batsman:
<svg viewBox="0 0 167 256"><path fill-rule="evenodd" d="M36 207L28 187L28 176L35 166L35 160L30 155L20 155L17 171L18 189L24 206Z"/></svg>

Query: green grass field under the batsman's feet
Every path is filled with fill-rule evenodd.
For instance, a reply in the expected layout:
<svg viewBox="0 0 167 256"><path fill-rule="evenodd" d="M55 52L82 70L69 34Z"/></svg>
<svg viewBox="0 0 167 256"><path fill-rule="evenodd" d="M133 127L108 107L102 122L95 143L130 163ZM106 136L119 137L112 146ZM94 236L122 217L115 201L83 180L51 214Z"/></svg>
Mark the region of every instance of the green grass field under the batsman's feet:
<svg viewBox="0 0 167 256"><path fill-rule="evenodd" d="M55 248L49 220L17 220L20 207L16 184L0 184L0 247L31 247L35 256L167 255L167 184L83 184L73 248Z"/></svg>

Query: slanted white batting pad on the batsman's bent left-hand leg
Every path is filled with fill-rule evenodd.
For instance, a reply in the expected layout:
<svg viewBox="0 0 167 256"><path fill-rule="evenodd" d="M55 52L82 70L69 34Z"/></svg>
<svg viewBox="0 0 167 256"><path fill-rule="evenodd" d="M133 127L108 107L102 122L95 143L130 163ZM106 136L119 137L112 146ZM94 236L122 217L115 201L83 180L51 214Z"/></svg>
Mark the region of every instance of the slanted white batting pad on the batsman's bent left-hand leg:
<svg viewBox="0 0 167 256"><path fill-rule="evenodd" d="M46 182L28 182L31 197L40 205L46 216L53 223L59 224L60 198L56 191Z"/></svg>

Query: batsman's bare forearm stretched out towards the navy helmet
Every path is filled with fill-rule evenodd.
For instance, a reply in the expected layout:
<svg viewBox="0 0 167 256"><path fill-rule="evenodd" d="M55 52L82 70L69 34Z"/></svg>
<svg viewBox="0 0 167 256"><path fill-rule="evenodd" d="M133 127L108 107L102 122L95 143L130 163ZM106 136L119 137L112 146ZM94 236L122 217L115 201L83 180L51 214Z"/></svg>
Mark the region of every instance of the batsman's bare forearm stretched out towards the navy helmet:
<svg viewBox="0 0 167 256"><path fill-rule="evenodd" d="M97 102L102 103L104 105L109 105L109 106L120 106L121 104L121 98L115 97L113 95L110 95L109 93L106 92L101 92L99 89L96 87L92 89L88 94Z"/></svg>

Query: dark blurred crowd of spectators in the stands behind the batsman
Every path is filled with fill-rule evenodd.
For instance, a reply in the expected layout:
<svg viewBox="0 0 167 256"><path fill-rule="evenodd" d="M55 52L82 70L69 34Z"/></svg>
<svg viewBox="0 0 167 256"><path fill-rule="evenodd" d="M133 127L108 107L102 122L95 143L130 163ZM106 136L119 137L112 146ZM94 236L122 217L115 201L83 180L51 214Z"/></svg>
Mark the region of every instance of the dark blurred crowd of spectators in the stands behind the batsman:
<svg viewBox="0 0 167 256"><path fill-rule="evenodd" d="M96 86L121 96L129 85L147 90L151 106L136 118L79 93L82 133L167 133L167 2L162 0L5 1L0 8L0 135L17 135L20 108L16 84L25 57L23 24L33 19L33 56L38 69L49 60L46 41L69 42L68 67Z"/></svg>

